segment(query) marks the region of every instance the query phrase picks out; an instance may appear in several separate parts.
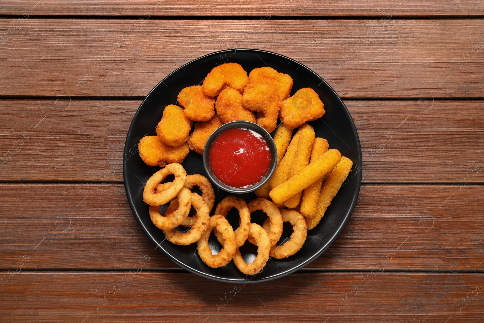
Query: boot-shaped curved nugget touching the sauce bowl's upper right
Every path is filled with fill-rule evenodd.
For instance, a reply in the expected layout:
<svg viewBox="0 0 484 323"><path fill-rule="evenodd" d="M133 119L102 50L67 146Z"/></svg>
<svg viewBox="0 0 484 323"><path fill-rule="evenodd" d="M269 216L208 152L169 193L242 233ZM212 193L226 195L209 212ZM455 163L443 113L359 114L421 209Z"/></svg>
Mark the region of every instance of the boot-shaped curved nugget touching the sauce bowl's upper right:
<svg viewBox="0 0 484 323"><path fill-rule="evenodd" d="M242 95L244 108L257 111L257 124L267 132L275 130L281 100L271 83L249 83Z"/></svg>

